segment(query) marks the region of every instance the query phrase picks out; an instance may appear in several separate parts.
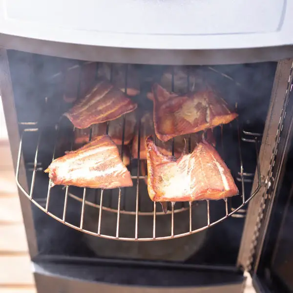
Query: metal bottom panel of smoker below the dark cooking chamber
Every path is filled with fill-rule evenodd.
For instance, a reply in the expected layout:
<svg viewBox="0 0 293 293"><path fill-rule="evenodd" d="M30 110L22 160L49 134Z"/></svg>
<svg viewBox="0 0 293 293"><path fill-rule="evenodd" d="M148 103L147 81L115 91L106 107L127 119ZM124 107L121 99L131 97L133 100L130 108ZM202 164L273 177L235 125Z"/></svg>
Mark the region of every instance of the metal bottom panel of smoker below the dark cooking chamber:
<svg viewBox="0 0 293 293"><path fill-rule="evenodd" d="M242 272L33 263L38 293L242 293Z"/></svg>

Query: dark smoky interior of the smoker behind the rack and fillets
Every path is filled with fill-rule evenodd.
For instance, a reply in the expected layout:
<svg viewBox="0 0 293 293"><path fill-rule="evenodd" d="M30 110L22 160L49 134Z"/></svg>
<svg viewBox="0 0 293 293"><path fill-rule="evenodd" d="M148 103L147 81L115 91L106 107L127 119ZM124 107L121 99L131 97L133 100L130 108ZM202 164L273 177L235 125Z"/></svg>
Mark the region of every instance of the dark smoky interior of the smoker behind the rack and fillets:
<svg viewBox="0 0 293 293"><path fill-rule="evenodd" d="M62 156L70 144L56 144L56 124L60 116L72 104L63 100L64 84L68 68L77 66L82 72L83 66L87 64L82 61L65 60L55 57L46 57L23 53L19 51L8 51L8 61L16 112L19 121L20 133L24 133L22 140L22 152L24 166L26 168L27 182L31 188L33 166L36 158L36 147L39 144L37 156L37 170L34 180L33 198L42 206L46 205L48 192L48 176L43 170L52 161L55 149L55 157ZM96 63L99 66L99 63ZM127 68L127 64L125 64ZM139 109L144 111L151 109L152 103L147 101L146 92L149 90L147 77L156 78L164 71L165 67L160 65L135 65L140 75L140 94L133 99L138 103ZM77 68L76 67L76 68ZM192 66L194 68L195 66ZM272 83L276 63L251 63L236 65L198 66L203 72L205 79L221 93L231 108L237 109L239 118L237 123L216 127L214 135L217 142L217 150L228 165L233 178L241 190L239 179L240 162L239 147L241 148L243 168L248 176L245 178L245 196L251 194L253 175L256 169L255 144L243 141L245 133L253 132L261 134L264 129L268 111ZM127 72L127 70L126 70ZM127 85L127 78L125 79ZM78 80L72 79L73 88L78 95ZM42 129L42 137L39 140L37 131L27 129ZM70 142L73 131L72 125L66 119L60 123L59 137L66 138ZM240 140L239 140L240 134ZM259 136L261 139L261 136ZM258 146L259 147L259 146ZM128 167L132 175L137 174L137 160L132 160ZM237 179L238 178L238 179ZM121 194L121 209L135 210L133 194L136 194L136 179L133 179L133 188L123 188ZM100 191L87 188L86 200L97 204L100 200ZM81 188L69 188L69 192L78 198L82 198ZM139 185L140 198L145 199L140 203L142 211L149 210L149 202L146 184L143 180ZM228 209L233 210L241 205L240 196L228 200ZM62 217L64 204L64 188L56 186L52 188L48 210ZM104 194L104 205L111 209L117 209L118 190L106 190ZM192 205L193 227L203 227L207 222L207 203L205 201L194 202ZM233 216L221 223L202 230L195 234L162 241L127 242L88 235L71 229L60 223L38 209L31 206L33 211L38 250L44 256L74 256L91 259L127 259L148 260L160 262L176 262L196 265L223 265L235 266L239 250L241 234L244 226L246 208L240 209ZM68 196L66 209L66 221L79 225L82 209L81 200ZM169 206L170 209L170 206ZM188 204L176 203L176 209L186 209L174 215L174 232L188 230ZM157 205L157 210L161 207ZM103 211L104 212L104 211ZM210 220L216 221L225 216L225 202L210 202ZM85 205L84 227L87 230L97 229L99 209ZM117 214L105 212L103 214L101 230L115 236L115 224ZM157 217L157 232L168 235L170 232L170 214ZM139 231L145 237L151 237L152 216L139 216ZM133 237L135 217L129 214L120 215L120 233Z"/></svg>

